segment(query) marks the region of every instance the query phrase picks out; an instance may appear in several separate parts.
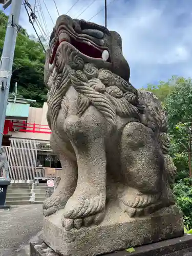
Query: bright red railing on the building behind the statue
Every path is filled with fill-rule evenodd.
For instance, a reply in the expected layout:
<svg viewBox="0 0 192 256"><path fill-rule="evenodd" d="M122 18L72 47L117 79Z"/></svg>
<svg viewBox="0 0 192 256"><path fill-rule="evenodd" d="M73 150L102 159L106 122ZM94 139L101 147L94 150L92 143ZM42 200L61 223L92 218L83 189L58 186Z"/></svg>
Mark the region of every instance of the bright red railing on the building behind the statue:
<svg viewBox="0 0 192 256"><path fill-rule="evenodd" d="M48 125L45 124L36 124L36 123L26 123L23 122L10 122L9 131L15 132L14 128L17 128L17 132L24 132L24 133L44 133L44 134L51 134L51 130L49 129Z"/></svg>

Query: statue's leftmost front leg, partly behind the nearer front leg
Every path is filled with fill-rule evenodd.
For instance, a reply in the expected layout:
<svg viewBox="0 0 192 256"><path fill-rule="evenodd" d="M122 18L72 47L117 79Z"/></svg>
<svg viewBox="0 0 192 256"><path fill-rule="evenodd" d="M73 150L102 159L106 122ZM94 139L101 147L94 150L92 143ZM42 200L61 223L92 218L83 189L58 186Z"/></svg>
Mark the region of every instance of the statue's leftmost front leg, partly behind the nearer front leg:
<svg viewBox="0 0 192 256"><path fill-rule="evenodd" d="M68 152L68 147L55 133L51 134L50 143L53 152L61 162L61 179L50 198L44 202L44 215L49 216L58 209L64 208L73 195L77 184L77 164L74 153ZM71 155L70 155L71 154Z"/></svg>

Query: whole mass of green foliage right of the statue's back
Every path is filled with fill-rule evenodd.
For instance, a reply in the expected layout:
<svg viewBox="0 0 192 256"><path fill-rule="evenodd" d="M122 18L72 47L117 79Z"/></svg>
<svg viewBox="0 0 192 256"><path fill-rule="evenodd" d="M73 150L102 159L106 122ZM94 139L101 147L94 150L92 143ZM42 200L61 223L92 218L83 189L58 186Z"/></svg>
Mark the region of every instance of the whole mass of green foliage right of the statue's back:
<svg viewBox="0 0 192 256"><path fill-rule="evenodd" d="M172 142L172 156L177 167L174 194L178 206L184 213L185 224L192 227L191 188L191 123L192 123L192 81L190 78L172 77L158 86L148 85L161 101L168 114L169 135Z"/></svg>

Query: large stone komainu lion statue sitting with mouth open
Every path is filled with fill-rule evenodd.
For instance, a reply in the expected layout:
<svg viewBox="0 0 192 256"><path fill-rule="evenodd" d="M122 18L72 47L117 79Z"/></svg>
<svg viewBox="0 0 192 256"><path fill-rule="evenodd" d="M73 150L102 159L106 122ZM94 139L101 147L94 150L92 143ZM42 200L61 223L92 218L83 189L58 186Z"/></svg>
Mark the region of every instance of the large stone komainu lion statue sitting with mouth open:
<svg viewBox="0 0 192 256"><path fill-rule="evenodd" d="M137 91L129 78L117 32L58 18L45 83L62 176L44 215L64 209L66 230L101 223L109 202L133 218L175 204L166 114L156 96Z"/></svg>

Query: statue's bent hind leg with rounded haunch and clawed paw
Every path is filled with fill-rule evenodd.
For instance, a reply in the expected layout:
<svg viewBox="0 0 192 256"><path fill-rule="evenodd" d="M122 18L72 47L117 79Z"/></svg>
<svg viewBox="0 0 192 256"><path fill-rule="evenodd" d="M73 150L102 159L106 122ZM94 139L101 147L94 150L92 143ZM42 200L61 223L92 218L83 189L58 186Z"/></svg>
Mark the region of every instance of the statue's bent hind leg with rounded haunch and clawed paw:
<svg viewBox="0 0 192 256"><path fill-rule="evenodd" d="M160 147L153 131L139 122L124 127L120 147L120 207L130 217L144 215L147 207L157 204L163 189L164 160Z"/></svg>

